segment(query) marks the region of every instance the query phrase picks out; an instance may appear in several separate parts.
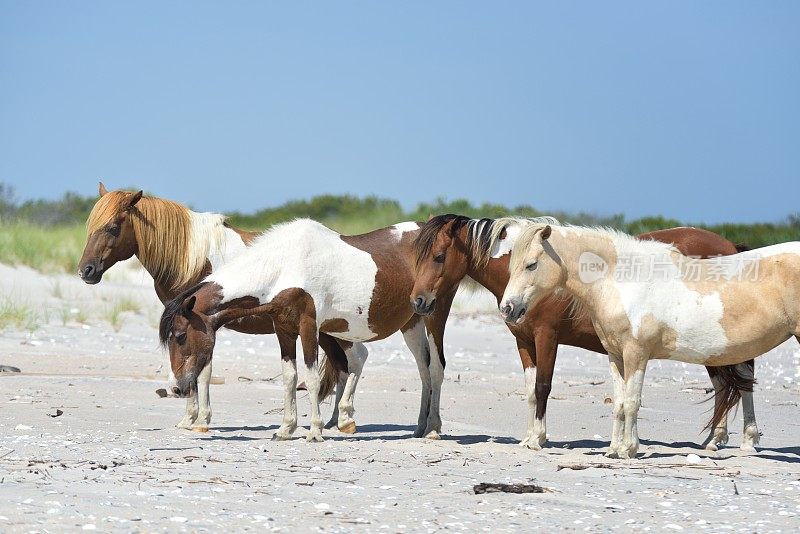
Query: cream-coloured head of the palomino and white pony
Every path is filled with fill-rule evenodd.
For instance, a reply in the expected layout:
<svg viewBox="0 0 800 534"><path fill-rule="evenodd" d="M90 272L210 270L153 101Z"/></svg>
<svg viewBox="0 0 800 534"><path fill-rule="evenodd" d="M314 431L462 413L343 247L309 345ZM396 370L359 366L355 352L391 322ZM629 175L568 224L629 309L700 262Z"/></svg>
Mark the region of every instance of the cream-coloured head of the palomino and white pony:
<svg viewBox="0 0 800 534"><path fill-rule="evenodd" d="M514 244L510 277L500 301L500 314L507 323L521 322L530 307L563 284L563 265L549 242L551 233L549 224L529 226Z"/></svg>

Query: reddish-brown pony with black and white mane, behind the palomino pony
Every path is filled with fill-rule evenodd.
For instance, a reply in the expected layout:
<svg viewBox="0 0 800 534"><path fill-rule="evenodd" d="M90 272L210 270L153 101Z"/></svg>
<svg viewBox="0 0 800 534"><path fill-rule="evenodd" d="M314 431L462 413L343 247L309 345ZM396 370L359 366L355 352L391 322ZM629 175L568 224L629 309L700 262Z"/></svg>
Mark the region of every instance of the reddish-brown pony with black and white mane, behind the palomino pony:
<svg viewBox="0 0 800 534"><path fill-rule="evenodd" d="M432 217L416 240L417 279L411 299L418 313L430 313L440 293L449 294L462 280L488 289L498 303L508 284L510 251L520 232L530 225L557 222L552 218L470 219L462 215ZM642 234L642 239L674 243L682 252L699 257L735 254L723 237L697 228L670 228ZM558 345L605 353L591 319L575 313L566 294L548 295L520 323L508 324L517 341L528 394L528 432L521 445L540 449L546 441L545 415ZM716 390L715 409L707 448L717 450L728 441L727 415L741 388L744 407L742 448L752 450L759 432L753 409L753 362L737 369L707 367Z"/></svg>

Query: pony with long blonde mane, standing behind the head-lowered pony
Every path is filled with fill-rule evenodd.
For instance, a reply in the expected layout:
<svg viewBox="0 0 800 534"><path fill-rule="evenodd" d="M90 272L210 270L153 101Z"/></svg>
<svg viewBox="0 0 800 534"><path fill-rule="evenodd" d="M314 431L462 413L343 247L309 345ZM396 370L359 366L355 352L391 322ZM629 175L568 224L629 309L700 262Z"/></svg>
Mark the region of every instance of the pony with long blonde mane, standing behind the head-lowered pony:
<svg viewBox="0 0 800 534"><path fill-rule="evenodd" d="M78 266L78 275L87 284L99 283L114 264L136 256L153 277L158 298L167 302L241 253L258 235L231 226L223 215L197 213L142 191L108 191L101 182L99 194L86 221L86 246ZM269 317L246 318L226 327L248 334L275 333ZM343 382L347 363L342 348L327 335L320 335L319 343L340 370ZM354 351L366 358L363 346L357 345ZM208 430L210 380L211 365L198 374L197 394L187 400L178 428ZM328 425L337 420L338 405ZM355 423L343 423L343 431L355 430Z"/></svg>

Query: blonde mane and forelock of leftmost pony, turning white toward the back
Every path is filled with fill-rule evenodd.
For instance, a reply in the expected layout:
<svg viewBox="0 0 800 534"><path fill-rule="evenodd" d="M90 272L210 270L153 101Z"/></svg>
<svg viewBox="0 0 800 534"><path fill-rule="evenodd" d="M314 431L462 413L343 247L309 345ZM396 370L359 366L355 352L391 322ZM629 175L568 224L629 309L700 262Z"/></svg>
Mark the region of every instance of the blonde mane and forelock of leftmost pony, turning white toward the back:
<svg viewBox="0 0 800 534"><path fill-rule="evenodd" d="M111 191L97 201L86 221L86 234L104 228L125 209L130 193ZM130 208L138 248L137 256L153 279L168 289L177 289L197 279L209 252L224 239L222 215L195 213L186 206L143 196Z"/></svg>

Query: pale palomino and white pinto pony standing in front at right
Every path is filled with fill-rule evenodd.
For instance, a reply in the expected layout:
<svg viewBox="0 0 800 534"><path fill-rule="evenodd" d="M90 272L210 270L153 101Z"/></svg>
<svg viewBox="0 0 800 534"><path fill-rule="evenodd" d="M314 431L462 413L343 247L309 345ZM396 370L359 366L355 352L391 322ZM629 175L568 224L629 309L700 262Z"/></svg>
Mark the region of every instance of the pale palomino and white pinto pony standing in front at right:
<svg viewBox="0 0 800 534"><path fill-rule="evenodd" d="M509 273L507 322L555 291L591 317L614 383L612 458L639 448L649 360L734 365L800 341L800 242L703 260L613 230L542 224L519 236Z"/></svg>

